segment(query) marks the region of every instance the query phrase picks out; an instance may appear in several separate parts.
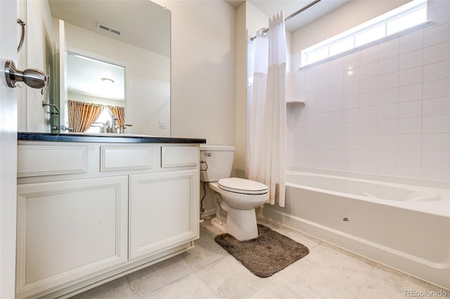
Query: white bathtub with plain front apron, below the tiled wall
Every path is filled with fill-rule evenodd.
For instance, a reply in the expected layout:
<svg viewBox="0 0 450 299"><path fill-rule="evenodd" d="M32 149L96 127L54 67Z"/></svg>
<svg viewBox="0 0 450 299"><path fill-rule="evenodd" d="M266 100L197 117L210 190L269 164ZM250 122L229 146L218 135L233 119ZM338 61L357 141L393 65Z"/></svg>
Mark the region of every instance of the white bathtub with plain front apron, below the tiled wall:
<svg viewBox="0 0 450 299"><path fill-rule="evenodd" d="M285 207L266 204L259 213L450 288L448 183L345 175L288 172Z"/></svg>

